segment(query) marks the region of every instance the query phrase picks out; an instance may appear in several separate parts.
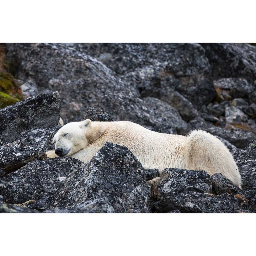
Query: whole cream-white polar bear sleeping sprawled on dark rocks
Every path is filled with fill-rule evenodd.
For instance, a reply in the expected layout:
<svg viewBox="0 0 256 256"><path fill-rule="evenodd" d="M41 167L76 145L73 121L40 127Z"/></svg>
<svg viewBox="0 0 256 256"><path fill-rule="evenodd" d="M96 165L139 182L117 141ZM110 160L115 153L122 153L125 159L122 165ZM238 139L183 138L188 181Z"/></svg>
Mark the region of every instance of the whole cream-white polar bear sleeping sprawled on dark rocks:
<svg viewBox="0 0 256 256"><path fill-rule="evenodd" d="M188 136L158 133L129 121L71 122L53 137L55 151L47 156L71 156L89 161L105 142L127 146L144 168L205 170L209 175L223 174L241 188L241 177L233 156L212 134L193 130Z"/></svg>

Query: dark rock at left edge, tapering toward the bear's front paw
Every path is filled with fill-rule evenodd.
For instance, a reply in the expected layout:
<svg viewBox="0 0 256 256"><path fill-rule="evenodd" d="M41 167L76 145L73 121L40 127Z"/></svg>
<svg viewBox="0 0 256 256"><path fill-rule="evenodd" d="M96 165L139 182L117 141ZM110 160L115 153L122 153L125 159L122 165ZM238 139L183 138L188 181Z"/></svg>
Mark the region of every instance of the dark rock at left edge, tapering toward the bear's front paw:
<svg viewBox="0 0 256 256"><path fill-rule="evenodd" d="M33 160L46 158L41 148L33 146L17 147L15 143L6 143L0 146L0 168L9 174L20 169Z"/></svg>

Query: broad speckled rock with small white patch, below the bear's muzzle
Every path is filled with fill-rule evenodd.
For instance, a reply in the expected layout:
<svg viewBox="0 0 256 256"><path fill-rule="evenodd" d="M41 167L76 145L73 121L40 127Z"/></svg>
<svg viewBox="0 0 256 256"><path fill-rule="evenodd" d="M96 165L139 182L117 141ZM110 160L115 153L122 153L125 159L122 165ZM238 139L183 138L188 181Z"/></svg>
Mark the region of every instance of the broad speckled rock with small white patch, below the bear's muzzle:
<svg viewBox="0 0 256 256"><path fill-rule="evenodd" d="M6 203L38 200L56 191L66 177L84 163L73 158L34 160L0 179L0 194Z"/></svg>

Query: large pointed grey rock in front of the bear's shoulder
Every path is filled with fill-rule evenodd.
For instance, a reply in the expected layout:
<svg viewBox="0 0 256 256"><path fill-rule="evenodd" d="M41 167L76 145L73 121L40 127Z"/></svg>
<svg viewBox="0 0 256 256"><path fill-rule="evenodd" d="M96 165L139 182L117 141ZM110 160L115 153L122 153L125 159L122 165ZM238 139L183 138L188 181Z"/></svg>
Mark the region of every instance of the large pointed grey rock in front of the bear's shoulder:
<svg viewBox="0 0 256 256"><path fill-rule="evenodd" d="M150 188L142 165L125 146L106 142L49 198L47 208L79 209L95 199L110 203L116 213L129 209L151 212Z"/></svg>

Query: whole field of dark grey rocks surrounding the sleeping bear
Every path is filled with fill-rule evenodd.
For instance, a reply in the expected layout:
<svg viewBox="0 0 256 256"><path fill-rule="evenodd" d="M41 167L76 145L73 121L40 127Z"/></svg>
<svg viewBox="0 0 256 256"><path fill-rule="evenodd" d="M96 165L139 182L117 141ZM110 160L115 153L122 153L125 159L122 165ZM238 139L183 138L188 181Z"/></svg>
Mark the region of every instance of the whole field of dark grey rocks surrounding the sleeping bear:
<svg viewBox="0 0 256 256"><path fill-rule="evenodd" d="M0 108L0 212L256 212L254 45L0 44ZM160 178L111 143L87 164L46 159L59 118L85 116L207 130L234 155L243 190L202 171Z"/></svg>

